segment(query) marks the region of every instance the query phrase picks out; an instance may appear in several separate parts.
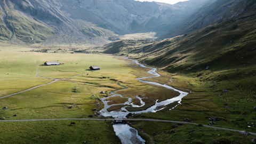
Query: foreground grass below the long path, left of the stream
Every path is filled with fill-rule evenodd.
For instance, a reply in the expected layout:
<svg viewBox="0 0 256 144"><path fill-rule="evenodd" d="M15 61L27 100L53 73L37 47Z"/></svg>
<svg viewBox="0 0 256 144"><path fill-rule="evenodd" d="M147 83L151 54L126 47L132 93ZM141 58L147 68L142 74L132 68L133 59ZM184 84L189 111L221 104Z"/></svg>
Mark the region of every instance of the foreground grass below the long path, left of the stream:
<svg viewBox="0 0 256 144"><path fill-rule="evenodd" d="M70 125L71 122L75 124ZM0 143L120 142L109 121L3 122L0 125Z"/></svg>

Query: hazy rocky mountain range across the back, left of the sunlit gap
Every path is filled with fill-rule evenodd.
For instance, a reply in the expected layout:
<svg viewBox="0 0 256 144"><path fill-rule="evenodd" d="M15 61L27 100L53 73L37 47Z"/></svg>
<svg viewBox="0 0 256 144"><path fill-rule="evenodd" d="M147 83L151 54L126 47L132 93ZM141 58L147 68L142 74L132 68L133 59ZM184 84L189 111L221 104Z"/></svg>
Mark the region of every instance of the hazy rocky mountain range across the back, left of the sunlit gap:
<svg viewBox="0 0 256 144"><path fill-rule="evenodd" d="M133 0L2 0L0 40L101 45L124 34L155 31L162 35L207 2L169 5Z"/></svg>

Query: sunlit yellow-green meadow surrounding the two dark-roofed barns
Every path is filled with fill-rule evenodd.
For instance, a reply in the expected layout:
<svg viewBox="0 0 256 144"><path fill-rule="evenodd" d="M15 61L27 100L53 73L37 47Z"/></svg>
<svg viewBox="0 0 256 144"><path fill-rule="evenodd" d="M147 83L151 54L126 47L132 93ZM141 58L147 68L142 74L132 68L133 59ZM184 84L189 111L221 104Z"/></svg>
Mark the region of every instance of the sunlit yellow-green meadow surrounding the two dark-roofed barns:
<svg viewBox="0 0 256 144"><path fill-rule="evenodd" d="M42 64L44 61L56 60L64 64L39 65L39 76L66 78L83 75L1 99L0 106L9 108L0 110L1 117L6 119L87 117L94 114L91 109L98 107L95 99L102 97L100 91L121 88L113 79L120 79L124 83L130 82L131 79L135 81L135 76L128 74L132 69L126 66L125 61L108 55L37 53L3 49L0 58L1 96L53 81L36 77L36 62ZM88 70L90 65L99 65L101 70L90 71ZM95 97L91 97L92 94ZM72 105L74 107L69 108ZM14 114L18 116L12 117Z"/></svg>

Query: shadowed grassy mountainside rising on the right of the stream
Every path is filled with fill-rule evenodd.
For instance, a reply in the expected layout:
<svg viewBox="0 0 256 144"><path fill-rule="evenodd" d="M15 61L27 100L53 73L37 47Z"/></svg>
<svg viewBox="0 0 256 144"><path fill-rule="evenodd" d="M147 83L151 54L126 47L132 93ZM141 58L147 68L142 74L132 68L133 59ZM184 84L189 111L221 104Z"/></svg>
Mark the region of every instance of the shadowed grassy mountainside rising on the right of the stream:
<svg viewBox="0 0 256 144"><path fill-rule="evenodd" d="M199 10L207 15L201 22L195 20L188 27L192 30L201 23L201 29L162 41L149 41L143 46L129 46L132 41L114 42L104 47L105 53L128 54L172 73L201 71L207 66L215 70L253 66L256 63L255 10L253 0L215 1L204 11Z"/></svg>

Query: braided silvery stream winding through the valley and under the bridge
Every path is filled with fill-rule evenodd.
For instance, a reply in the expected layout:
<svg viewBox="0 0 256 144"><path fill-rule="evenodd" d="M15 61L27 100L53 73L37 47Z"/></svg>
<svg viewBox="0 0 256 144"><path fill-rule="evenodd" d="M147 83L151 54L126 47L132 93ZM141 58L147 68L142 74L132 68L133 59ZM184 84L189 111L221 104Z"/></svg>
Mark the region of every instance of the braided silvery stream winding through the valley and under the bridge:
<svg viewBox="0 0 256 144"><path fill-rule="evenodd" d="M128 59L128 58L126 58L126 59ZM132 62L134 62L135 64L137 64L140 67L150 69L148 71L148 73L151 74L152 76L136 78L140 82L153 84L153 85L158 85L158 86L163 86L166 89L170 89L170 90L174 90L174 91L179 92L180 95L178 97L167 99L167 100L164 100L164 101L161 101L161 102L157 102L158 100L156 100L155 105L149 107L146 110L132 111L131 112L131 111L128 111L128 110L125 109L128 106L124 106L124 107L121 108L121 111L108 111L107 110L108 108L110 108L111 106L116 106L116 105L129 105L129 106L132 106L132 107L143 107L145 105L145 102L143 102L143 99L140 98L139 95L135 96L135 98L138 98L140 100L141 105L134 105L132 103L132 98L123 97L122 94L116 94L115 93L116 91L127 89L127 87L121 85L122 87L124 87L123 89L111 91L109 97L101 98L101 101L104 103L104 108L100 110L100 115L101 116L105 116L105 117L111 116L111 117L114 117L114 118L118 119L118 118L126 118L126 115L128 115L129 113L132 113L132 114L141 114L141 113L148 113L148 112L155 113L156 111L164 109L167 105L169 105L170 103L173 103L173 102L178 101L178 104L176 105L176 106L178 106L179 104L181 104L181 99L188 94L187 92L183 92L183 91L174 89L173 87L171 87L169 85L166 85L166 84L160 84L160 83L156 83L156 82L150 82L150 81L142 80L142 79L145 79L145 78L159 77L161 75L156 72L157 68L151 68L151 67L147 67L145 65L142 65L141 63L138 62L138 60L132 60L132 59L128 59L128 60L131 60ZM120 84L118 83L118 85L120 85ZM121 104L108 105L107 99L110 98L110 97L116 97L116 96L119 96L119 97L122 97L122 98L128 98L128 101L126 101L125 103L121 103ZM176 106L174 106L173 108L175 108ZM171 108L171 109L173 109L173 108ZM114 124L113 127L114 127L114 131L115 131L117 137L119 137L119 139L121 139L121 142L123 144L145 143L146 142L145 140L143 140L140 137L140 135L138 134L138 131L136 129L134 129L133 127L131 127L127 124Z"/></svg>

